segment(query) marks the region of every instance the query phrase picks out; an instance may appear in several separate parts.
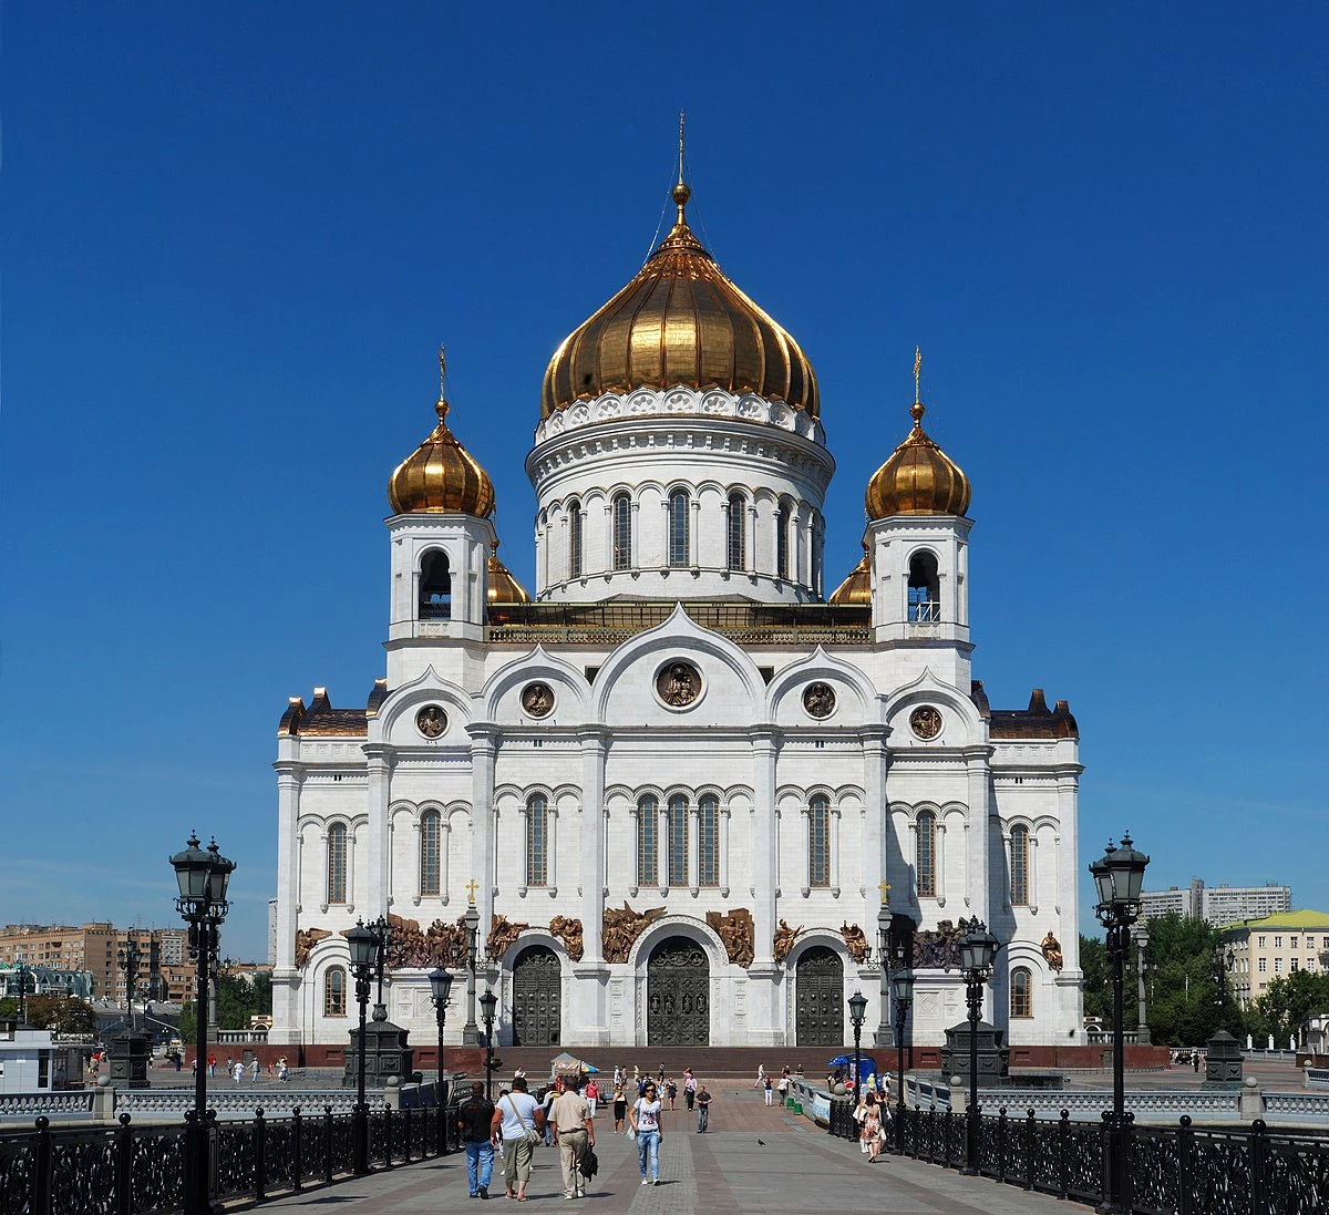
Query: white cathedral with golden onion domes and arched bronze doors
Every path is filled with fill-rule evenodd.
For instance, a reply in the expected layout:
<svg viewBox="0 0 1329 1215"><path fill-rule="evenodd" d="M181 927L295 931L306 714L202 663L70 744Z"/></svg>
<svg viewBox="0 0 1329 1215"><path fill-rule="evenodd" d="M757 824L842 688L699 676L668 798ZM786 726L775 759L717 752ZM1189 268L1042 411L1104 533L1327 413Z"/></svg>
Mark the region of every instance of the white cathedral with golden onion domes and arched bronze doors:
<svg viewBox="0 0 1329 1215"><path fill-rule="evenodd" d="M278 728L274 1044L346 1044L344 933L380 917L416 1040L443 965L448 1042L474 1033L472 968L500 1044L840 1048L856 989L872 1042L888 960L916 972L910 1040L940 1044L977 919L1002 944L985 1018L1084 1041L1079 731L973 678L971 487L917 358L828 592L816 375L688 198L680 174L672 229L545 371L532 592L441 389L391 475L385 675L360 709L292 697Z"/></svg>

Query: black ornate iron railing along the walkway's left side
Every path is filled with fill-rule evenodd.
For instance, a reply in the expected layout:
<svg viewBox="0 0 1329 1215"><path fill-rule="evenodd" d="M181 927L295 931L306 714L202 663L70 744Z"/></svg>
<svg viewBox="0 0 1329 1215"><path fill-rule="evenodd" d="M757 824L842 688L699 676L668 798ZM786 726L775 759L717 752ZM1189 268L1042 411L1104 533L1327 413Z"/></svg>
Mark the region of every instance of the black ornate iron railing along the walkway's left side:
<svg viewBox="0 0 1329 1215"><path fill-rule="evenodd" d="M439 1119L443 1119L440 1127ZM45 1117L31 1131L0 1134L0 1215L167 1215L183 1207L185 1123L54 1129ZM209 1192L213 1202L263 1202L307 1186L347 1178L355 1160L350 1114L218 1122L207 1118ZM440 1133L443 1138L440 1138ZM460 1147L456 1110L369 1111L369 1163L393 1168Z"/></svg>

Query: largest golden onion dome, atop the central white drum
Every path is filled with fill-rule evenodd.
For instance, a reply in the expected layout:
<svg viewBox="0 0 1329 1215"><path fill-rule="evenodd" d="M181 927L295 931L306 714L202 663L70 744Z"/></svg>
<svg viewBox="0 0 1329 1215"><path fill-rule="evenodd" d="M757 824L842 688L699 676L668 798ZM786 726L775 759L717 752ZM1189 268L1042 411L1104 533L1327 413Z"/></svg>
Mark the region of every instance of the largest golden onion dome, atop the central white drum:
<svg viewBox="0 0 1329 1215"><path fill-rule="evenodd" d="M558 347L540 416L634 388L724 388L820 416L817 379L799 343L747 298L692 235L683 214L637 276Z"/></svg>

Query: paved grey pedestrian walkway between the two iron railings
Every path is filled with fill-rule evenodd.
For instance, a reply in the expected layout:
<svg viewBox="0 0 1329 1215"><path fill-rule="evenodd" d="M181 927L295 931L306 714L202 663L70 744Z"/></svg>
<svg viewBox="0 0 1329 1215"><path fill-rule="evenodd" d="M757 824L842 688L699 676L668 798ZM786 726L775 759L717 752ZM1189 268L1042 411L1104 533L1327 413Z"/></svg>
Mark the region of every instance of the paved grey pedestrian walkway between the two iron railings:
<svg viewBox="0 0 1329 1215"><path fill-rule="evenodd" d="M696 1133L679 1101L664 1115L661 1184L642 1186L637 1146L613 1133L613 1119L595 1121L599 1174L578 1203L586 1215L825 1215L829 1208L896 1215L1067 1215L1076 1210L1055 1198L1001 1186L987 1178L961 1176L948 1168L897 1157L869 1164L859 1145L832 1139L809 1119L764 1105L751 1086L714 1086L711 1129ZM490 1202L504 1202L494 1162ZM528 1207L562 1208L558 1153L541 1149L526 1191ZM368 1215L429 1212L478 1215L478 1199L466 1194L466 1159L393 1168L369 1178L310 1190L266 1210L339 1206ZM1083 1210L1088 1210L1084 1207Z"/></svg>

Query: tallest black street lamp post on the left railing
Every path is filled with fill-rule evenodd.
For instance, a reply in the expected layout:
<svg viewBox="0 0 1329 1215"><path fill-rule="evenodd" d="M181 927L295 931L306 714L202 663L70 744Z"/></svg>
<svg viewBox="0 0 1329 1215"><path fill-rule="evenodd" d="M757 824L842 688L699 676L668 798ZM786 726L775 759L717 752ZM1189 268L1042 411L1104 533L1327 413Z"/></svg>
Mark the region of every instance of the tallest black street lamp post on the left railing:
<svg viewBox="0 0 1329 1215"><path fill-rule="evenodd" d="M190 953L198 961L197 1008L194 1017L194 1117L185 1127L185 1215L207 1215L210 1207L210 1174L207 1162L207 985L217 961L218 928L230 904L226 887L235 871L235 861L222 856L213 840L199 848L191 835L183 852L170 859L175 869L179 897L175 909L189 924Z"/></svg>

